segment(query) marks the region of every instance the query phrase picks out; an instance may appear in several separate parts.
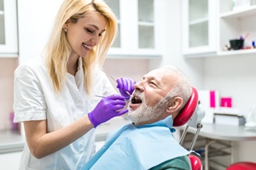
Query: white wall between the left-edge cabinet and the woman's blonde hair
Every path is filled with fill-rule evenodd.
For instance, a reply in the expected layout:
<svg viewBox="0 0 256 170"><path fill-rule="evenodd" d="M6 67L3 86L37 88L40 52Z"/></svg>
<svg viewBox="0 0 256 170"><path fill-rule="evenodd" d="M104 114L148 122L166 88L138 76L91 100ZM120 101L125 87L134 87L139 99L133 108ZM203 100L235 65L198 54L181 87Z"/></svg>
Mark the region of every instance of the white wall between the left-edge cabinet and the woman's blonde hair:
<svg viewBox="0 0 256 170"><path fill-rule="evenodd" d="M20 63L42 54L62 1L17 1Z"/></svg>

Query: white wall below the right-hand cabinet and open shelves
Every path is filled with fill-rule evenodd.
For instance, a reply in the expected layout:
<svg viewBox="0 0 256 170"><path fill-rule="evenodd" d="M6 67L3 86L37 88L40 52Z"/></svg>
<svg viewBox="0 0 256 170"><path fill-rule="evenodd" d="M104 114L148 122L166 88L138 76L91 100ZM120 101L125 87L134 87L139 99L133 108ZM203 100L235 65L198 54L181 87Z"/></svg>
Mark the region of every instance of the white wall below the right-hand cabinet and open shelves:
<svg viewBox="0 0 256 170"><path fill-rule="evenodd" d="M220 96L231 97L233 107L247 116L256 105L255 54L209 58L204 70L205 88L217 89Z"/></svg>

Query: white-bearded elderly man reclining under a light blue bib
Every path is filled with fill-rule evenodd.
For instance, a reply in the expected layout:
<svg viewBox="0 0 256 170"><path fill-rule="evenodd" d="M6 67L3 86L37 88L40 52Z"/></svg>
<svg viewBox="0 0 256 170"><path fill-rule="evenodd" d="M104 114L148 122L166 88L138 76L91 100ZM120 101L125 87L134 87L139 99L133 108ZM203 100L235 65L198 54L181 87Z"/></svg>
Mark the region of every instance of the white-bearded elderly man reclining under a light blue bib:
<svg viewBox="0 0 256 170"><path fill-rule="evenodd" d="M84 169L190 169L189 151L173 138L173 119L189 100L181 71L165 66L134 85L127 116L131 124L108 136Z"/></svg>

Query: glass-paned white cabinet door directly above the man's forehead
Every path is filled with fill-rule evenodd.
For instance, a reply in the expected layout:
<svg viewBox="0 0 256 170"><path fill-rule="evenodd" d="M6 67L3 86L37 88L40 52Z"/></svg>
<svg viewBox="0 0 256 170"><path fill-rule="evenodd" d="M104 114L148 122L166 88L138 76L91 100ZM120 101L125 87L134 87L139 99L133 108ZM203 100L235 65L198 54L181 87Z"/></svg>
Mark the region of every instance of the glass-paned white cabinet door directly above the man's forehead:
<svg viewBox="0 0 256 170"><path fill-rule="evenodd" d="M158 26L163 26L160 15L161 7L159 0L137 0L137 16L135 16L135 29L137 31L137 43L131 43L138 54L160 54L160 31Z"/></svg>

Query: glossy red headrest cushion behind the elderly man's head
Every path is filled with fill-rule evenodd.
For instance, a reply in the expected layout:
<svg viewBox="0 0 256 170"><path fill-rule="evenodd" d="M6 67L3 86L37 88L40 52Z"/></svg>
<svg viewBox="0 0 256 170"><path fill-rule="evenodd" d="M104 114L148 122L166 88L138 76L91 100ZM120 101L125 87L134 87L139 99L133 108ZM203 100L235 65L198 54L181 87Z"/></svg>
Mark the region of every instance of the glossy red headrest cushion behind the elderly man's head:
<svg viewBox="0 0 256 170"><path fill-rule="evenodd" d="M196 106L198 105L198 93L193 87L189 101L184 106L183 110L175 117L173 121L173 127L183 126L186 122L189 122L191 116L193 116Z"/></svg>

